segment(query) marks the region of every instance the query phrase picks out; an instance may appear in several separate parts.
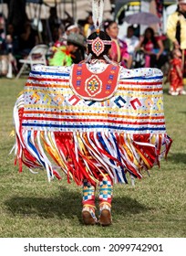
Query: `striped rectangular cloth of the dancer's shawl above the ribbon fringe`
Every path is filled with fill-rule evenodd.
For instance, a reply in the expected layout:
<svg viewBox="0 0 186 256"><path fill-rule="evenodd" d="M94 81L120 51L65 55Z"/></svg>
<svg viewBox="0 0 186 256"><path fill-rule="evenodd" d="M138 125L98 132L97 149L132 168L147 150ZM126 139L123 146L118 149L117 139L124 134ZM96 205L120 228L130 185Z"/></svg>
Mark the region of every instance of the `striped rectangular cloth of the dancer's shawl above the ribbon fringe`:
<svg viewBox="0 0 186 256"><path fill-rule="evenodd" d="M118 88L111 98L105 101L82 99L70 87L72 69L84 71L84 66L42 67L31 71L24 91L24 113L22 127L28 131L49 132L110 132L110 133L166 133L162 73L159 69L122 69L117 75ZM109 91L115 66L108 67L104 81L96 66L90 73L95 77L88 81L88 93L96 93L101 88ZM86 68L86 67L85 67ZM87 66L86 72L90 67ZM98 75L99 74L99 75ZM78 75L77 75L78 80ZM91 81L91 82L90 82ZM83 80L78 88L85 89ZM107 94L107 93L106 93ZM99 95L99 94L98 94ZM109 94L107 94L109 95ZM96 97L98 97L96 95ZM109 101L109 105L107 103Z"/></svg>

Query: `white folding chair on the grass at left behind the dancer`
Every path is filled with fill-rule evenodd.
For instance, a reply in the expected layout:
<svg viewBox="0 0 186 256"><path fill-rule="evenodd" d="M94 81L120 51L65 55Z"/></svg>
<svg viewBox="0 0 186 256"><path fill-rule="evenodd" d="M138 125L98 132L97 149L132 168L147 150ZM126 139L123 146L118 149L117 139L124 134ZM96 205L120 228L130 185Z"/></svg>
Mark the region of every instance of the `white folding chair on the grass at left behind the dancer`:
<svg viewBox="0 0 186 256"><path fill-rule="evenodd" d="M47 65L47 50L47 45L36 45L34 48L31 49L26 59L19 59L19 62L23 63L23 65L19 70L18 74L16 75L15 79L17 80L21 76L27 66L32 69L32 67L36 64Z"/></svg>

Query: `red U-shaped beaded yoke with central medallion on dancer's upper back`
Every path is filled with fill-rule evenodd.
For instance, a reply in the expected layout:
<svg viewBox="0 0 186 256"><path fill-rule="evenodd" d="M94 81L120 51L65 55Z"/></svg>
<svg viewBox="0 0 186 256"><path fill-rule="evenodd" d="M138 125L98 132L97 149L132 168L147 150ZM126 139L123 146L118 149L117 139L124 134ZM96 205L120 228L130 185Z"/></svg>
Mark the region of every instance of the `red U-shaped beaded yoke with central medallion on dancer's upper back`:
<svg viewBox="0 0 186 256"><path fill-rule="evenodd" d="M70 87L81 99L108 100L117 91L119 69L119 66L107 65L102 71L94 73L85 63L73 65Z"/></svg>

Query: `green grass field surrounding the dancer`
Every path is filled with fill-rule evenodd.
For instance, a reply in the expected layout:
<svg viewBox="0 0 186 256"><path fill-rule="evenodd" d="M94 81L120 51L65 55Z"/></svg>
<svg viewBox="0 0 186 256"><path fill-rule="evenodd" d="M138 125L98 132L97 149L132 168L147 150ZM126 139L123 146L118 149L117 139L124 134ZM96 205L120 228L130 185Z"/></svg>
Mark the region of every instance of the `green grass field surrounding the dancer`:
<svg viewBox="0 0 186 256"><path fill-rule="evenodd" d="M14 154L13 106L25 80L0 80L0 234L20 237L186 237L186 96L171 97L164 87L167 132L173 140L168 161L136 186L114 187L113 224L107 228L84 226L81 188L62 181L47 182L42 172L18 173Z"/></svg>

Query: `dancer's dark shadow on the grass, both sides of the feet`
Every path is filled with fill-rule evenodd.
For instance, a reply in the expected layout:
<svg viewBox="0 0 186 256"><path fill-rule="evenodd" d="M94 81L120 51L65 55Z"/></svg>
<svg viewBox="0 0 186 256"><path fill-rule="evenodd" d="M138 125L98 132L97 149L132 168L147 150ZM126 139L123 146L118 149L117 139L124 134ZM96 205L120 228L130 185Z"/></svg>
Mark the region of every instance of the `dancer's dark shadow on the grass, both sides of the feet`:
<svg viewBox="0 0 186 256"><path fill-rule="evenodd" d="M81 219L82 195L78 191L68 191L63 188L58 197L12 197L5 201L5 206L13 216L23 215L26 218L42 219ZM113 214L127 216L150 210L130 197L114 197Z"/></svg>

